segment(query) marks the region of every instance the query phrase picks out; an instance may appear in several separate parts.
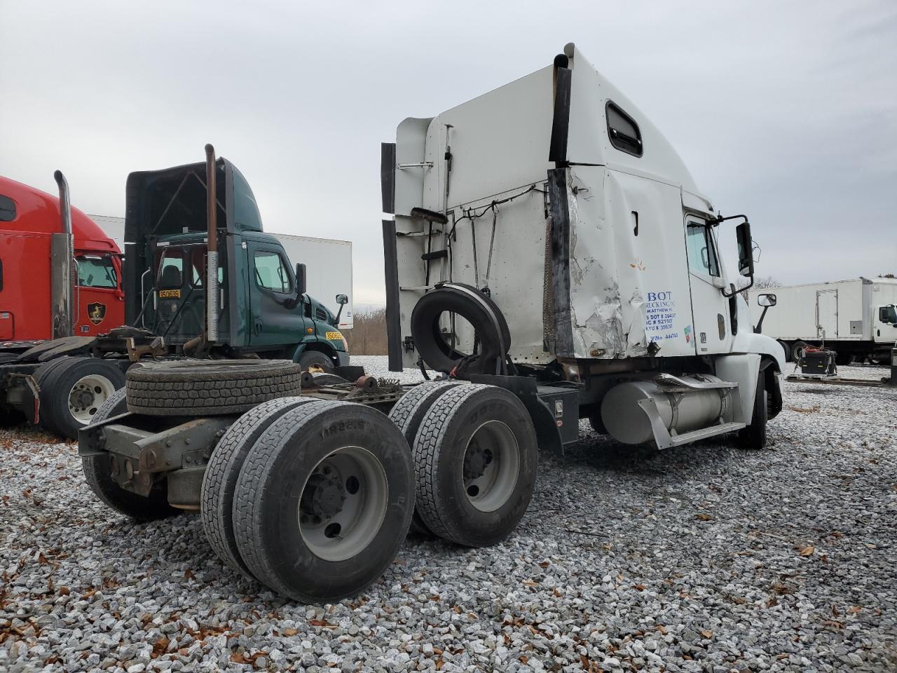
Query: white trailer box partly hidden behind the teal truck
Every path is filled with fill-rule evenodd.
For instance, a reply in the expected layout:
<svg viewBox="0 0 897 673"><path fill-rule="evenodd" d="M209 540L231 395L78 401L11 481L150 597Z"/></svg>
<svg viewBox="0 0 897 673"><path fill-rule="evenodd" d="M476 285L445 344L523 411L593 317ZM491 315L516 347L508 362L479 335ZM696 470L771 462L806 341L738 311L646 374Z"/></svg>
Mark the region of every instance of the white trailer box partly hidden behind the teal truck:
<svg viewBox="0 0 897 673"><path fill-rule="evenodd" d="M125 218L111 215L89 215L100 229L106 232L118 247L125 249ZM349 303L339 314L339 328L352 329L352 241L316 239L309 236L293 236L274 233L280 240L292 264L302 263L308 279L309 295L323 303L336 315L339 305L337 294L346 294Z"/></svg>

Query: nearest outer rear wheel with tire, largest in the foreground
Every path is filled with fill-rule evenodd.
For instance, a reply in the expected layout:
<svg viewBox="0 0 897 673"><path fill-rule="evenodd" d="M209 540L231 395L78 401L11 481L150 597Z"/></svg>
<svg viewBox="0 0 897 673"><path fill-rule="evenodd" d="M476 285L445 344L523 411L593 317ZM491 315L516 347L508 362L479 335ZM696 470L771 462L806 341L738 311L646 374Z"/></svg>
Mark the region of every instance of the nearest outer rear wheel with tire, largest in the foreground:
<svg viewBox="0 0 897 673"><path fill-rule="evenodd" d="M414 462L386 415L315 401L271 424L234 492L239 555L283 596L327 603L366 589L396 558L414 511Z"/></svg>

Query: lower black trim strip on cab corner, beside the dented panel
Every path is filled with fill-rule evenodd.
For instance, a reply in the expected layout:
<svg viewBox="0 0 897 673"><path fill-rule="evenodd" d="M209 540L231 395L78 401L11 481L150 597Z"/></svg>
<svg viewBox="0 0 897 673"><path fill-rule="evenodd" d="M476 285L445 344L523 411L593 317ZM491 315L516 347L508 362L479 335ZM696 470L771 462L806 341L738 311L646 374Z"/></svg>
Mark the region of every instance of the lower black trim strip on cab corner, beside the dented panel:
<svg viewBox="0 0 897 673"><path fill-rule="evenodd" d="M548 170L548 200L552 217L552 283L554 290L554 354L573 357L570 318L570 169Z"/></svg>

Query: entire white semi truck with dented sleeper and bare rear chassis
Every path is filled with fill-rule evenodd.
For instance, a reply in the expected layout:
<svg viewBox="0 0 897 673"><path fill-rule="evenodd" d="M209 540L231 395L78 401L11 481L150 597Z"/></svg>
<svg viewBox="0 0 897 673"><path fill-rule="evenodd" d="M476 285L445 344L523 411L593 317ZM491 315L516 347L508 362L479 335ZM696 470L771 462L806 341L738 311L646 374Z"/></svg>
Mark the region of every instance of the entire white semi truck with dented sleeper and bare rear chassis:
<svg viewBox="0 0 897 673"><path fill-rule="evenodd" d="M573 45L405 119L381 156L390 368L440 379L345 366L297 385L292 363L132 367L79 433L104 502L144 520L199 510L223 562L334 602L376 581L411 526L463 546L507 537L540 452L577 441L580 417L626 444L737 433L762 449L785 358L739 293L750 226L718 215ZM717 230L733 220L730 277Z"/></svg>

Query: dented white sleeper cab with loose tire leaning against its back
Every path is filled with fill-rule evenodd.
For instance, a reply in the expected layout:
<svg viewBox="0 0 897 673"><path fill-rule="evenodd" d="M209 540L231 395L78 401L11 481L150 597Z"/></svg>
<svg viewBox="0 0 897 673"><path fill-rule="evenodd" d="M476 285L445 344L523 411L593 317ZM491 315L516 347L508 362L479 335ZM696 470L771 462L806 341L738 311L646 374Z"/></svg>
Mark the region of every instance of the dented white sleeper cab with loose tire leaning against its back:
<svg viewBox="0 0 897 673"><path fill-rule="evenodd" d="M764 446L785 361L736 292L753 283L747 218L714 214L572 44L553 66L405 119L382 173L390 369L510 389L543 448L576 441L580 416L627 444L737 432ZM727 276L718 249L718 227L736 223L748 280Z"/></svg>

